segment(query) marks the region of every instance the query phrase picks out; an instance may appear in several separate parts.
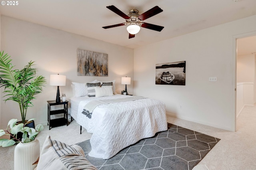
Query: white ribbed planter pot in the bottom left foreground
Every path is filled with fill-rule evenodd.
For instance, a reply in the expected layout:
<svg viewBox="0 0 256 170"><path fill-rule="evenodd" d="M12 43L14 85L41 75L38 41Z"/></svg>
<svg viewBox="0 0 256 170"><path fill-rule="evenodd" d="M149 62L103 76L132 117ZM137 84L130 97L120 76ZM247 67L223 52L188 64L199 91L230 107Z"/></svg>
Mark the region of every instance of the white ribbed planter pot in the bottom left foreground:
<svg viewBox="0 0 256 170"><path fill-rule="evenodd" d="M18 143L14 149L14 170L34 170L36 162L40 155L39 140L33 140L28 143Z"/></svg>

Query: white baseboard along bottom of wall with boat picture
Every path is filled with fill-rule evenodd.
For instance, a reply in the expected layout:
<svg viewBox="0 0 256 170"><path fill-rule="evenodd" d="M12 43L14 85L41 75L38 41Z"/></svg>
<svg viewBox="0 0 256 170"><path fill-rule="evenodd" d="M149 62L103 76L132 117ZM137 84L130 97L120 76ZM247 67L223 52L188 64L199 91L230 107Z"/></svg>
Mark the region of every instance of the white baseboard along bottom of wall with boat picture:
<svg viewBox="0 0 256 170"><path fill-rule="evenodd" d="M230 128L230 127L220 126L220 125L216 125L216 124L214 124L214 123L209 123L209 122L204 122L204 121L198 121L197 119L191 119L191 118L184 117L184 116L179 116L179 115L176 115L176 114L173 114L173 113L167 113L167 112L166 112L166 115L167 115L167 116L170 116L170 117L182 119L182 120L185 120L185 121L190 121L190 122L194 122L194 123L199 123L199 124L202 124L202 125L206 125L206 126L210 126L210 127L215 127L215 128L220 128L220 129L224 129L224 130L228 130L228 131L234 132L234 130L233 130L232 128Z"/></svg>

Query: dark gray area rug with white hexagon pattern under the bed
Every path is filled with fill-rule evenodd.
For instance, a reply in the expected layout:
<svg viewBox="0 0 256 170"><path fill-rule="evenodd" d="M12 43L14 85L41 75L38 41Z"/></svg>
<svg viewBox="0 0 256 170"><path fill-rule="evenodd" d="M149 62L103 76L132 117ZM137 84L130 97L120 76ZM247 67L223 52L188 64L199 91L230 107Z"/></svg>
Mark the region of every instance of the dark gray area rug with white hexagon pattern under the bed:
<svg viewBox="0 0 256 170"><path fill-rule="evenodd" d="M130 145L108 160L88 156L90 140L78 143L98 170L191 170L220 139L168 123L158 132Z"/></svg>

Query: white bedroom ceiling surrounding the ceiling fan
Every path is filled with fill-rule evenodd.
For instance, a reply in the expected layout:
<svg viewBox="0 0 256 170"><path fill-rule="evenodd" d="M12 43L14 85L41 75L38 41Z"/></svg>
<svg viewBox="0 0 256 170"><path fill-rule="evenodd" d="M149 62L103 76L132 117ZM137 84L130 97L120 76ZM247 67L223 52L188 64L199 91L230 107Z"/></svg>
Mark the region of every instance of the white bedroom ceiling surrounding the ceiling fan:
<svg viewBox="0 0 256 170"><path fill-rule="evenodd" d="M110 5L125 14L131 9L142 14L159 6L164 11L145 22L164 29L157 32L142 28L132 39L128 39L126 26L105 30L102 26L125 22L106 8ZM256 0L19 0L17 6L0 5L0 14L136 48L256 15Z"/></svg>

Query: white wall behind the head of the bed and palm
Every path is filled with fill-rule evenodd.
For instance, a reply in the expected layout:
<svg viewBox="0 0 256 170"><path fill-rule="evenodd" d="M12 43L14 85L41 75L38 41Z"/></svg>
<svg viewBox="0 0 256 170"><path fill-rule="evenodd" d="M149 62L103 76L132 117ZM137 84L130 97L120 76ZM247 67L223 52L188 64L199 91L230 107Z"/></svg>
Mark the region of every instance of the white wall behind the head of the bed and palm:
<svg viewBox="0 0 256 170"><path fill-rule="evenodd" d="M53 28L24 22L6 16L1 17L1 48L13 59L17 69L22 69L30 60L36 61L38 74L49 81L50 74L66 75L66 86L60 87L60 94L66 93L67 99L72 96L71 82L90 82L116 80L116 92L124 89L121 77L133 79L134 50L92 38L63 32ZM108 54L108 77L77 76L76 50L86 49ZM124 64L124 61L126 64ZM133 83L129 92L133 93ZM3 89L2 89L3 90ZM43 93L33 100L34 107L28 109L27 119L36 118L36 123L46 123L48 100L56 99L57 87L49 82ZM20 118L18 105L12 101L1 100L1 128L6 127L12 118Z"/></svg>

